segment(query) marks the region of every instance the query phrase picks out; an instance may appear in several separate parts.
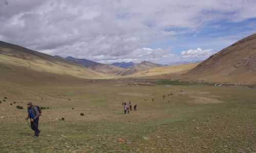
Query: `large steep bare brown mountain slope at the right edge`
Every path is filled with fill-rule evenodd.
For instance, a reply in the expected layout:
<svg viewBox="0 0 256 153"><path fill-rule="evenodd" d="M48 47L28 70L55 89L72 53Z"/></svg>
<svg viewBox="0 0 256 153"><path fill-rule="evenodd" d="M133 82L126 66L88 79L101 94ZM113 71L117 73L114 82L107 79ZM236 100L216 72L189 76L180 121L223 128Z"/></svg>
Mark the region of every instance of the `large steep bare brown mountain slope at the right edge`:
<svg viewBox="0 0 256 153"><path fill-rule="evenodd" d="M256 83L256 33L210 56L187 75L205 81Z"/></svg>

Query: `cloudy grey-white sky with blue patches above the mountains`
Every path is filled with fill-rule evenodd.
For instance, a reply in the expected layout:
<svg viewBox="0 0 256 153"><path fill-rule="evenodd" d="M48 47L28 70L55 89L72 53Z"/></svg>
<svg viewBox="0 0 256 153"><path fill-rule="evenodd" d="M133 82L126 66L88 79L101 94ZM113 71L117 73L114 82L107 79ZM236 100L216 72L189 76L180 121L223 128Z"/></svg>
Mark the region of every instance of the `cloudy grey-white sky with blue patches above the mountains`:
<svg viewBox="0 0 256 153"><path fill-rule="evenodd" d="M101 63L202 61L253 33L255 0L0 0L0 40Z"/></svg>

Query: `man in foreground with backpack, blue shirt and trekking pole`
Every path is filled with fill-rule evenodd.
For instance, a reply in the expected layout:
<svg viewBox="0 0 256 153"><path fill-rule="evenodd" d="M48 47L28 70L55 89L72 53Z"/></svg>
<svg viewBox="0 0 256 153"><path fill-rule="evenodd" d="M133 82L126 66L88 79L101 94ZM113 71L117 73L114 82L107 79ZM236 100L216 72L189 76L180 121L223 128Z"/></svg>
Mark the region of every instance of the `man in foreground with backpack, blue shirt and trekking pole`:
<svg viewBox="0 0 256 153"><path fill-rule="evenodd" d="M26 118L26 120L30 118L31 129L35 132L35 136L38 137L40 133L38 129L40 114L37 108L34 107L31 102L29 102L27 105L28 105L28 117Z"/></svg>

